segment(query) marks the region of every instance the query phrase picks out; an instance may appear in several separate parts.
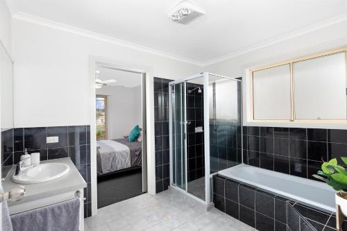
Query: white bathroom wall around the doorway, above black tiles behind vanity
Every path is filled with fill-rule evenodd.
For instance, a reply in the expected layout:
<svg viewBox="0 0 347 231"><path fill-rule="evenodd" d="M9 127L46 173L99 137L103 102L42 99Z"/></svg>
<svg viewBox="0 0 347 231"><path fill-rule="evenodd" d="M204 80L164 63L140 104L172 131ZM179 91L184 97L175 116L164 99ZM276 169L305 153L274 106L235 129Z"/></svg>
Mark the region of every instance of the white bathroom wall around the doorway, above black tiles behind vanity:
<svg viewBox="0 0 347 231"><path fill-rule="evenodd" d="M152 76L160 78L201 71L184 62L14 19L15 126L90 123L90 55L151 67Z"/></svg>

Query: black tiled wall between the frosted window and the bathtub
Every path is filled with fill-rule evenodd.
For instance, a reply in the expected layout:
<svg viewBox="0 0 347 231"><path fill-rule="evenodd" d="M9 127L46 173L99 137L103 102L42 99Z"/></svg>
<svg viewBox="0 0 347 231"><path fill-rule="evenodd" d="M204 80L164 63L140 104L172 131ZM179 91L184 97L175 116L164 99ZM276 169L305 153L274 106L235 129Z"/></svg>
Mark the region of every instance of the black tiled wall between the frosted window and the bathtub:
<svg viewBox="0 0 347 231"><path fill-rule="evenodd" d="M323 161L346 155L347 130L243 127L244 163L312 177Z"/></svg>

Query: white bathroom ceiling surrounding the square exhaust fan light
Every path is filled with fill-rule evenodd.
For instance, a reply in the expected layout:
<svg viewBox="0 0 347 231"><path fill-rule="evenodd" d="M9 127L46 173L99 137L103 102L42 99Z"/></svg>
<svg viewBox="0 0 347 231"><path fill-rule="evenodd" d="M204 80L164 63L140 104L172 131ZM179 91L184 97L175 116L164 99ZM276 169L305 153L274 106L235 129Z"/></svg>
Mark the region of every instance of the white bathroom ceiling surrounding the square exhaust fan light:
<svg viewBox="0 0 347 231"><path fill-rule="evenodd" d="M7 0L24 12L197 62L346 14L346 0L192 0L206 11L188 25L167 19L176 0Z"/></svg>

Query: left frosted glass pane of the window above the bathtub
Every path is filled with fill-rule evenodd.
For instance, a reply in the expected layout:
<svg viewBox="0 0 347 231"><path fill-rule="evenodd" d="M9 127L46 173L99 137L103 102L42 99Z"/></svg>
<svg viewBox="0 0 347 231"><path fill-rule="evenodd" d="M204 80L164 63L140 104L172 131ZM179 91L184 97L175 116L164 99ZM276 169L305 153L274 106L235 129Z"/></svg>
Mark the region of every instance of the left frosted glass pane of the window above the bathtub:
<svg viewBox="0 0 347 231"><path fill-rule="evenodd" d="M290 119L290 66L253 72L254 119Z"/></svg>

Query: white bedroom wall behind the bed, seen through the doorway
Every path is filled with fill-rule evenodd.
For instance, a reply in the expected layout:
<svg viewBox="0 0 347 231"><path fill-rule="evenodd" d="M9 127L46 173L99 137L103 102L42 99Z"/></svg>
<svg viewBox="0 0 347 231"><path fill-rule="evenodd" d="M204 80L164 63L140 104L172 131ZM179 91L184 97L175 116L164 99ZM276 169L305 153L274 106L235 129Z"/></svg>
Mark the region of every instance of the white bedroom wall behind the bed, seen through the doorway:
<svg viewBox="0 0 347 231"><path fill-rule="evenodd" d="M141 76L138 77L141 80ZM96 89L96 94L108 96L108 139L121 139L124 135L129 135L136 124L141 126L141 123L138 123L138 117L142 117L142 96L135 94L138 88L141 89L141 86L105 86ZM138 102L139 107L136 107Z"/></svg>

